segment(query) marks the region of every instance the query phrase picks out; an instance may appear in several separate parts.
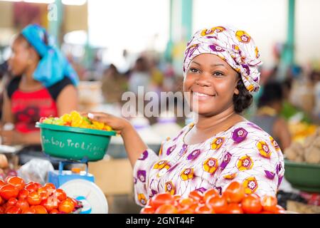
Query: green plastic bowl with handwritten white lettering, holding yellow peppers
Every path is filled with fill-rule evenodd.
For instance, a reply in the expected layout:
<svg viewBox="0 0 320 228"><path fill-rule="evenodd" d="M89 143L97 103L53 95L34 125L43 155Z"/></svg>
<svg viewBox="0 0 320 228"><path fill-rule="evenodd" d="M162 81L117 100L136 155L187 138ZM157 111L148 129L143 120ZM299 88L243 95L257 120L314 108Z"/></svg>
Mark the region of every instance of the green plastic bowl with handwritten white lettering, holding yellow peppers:
<svg viewBox="0 0 320 228"><path fill-rule="evenodd" d="M67 160L102 160L114 131L73 128L36 123L41 130L41 146L46 155Z"/></svg>

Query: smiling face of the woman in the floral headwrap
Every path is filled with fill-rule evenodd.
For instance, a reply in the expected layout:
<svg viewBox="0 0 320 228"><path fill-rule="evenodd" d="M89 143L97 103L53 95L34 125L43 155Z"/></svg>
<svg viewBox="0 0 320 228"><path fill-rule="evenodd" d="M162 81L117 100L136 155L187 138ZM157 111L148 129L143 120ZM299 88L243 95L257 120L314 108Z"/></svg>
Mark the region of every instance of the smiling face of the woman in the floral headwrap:
<svg viewBox="0 0 320 228"><path fill-rule="evenodd" d="M183 91L191 110L213 116L233 107L233 95L240 80L238 73L220 57L210 53L196 56L186 72Z"/></svg>

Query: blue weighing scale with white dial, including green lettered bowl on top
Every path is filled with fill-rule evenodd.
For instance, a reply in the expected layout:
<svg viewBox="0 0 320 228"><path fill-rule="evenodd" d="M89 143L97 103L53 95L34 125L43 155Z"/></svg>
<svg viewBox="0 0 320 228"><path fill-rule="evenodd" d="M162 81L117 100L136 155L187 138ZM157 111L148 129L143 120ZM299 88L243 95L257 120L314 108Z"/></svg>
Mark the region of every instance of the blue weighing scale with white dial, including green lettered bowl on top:
<svg viewBox="0 0 320 228"><path fill-rule="evenodd" d="M95 177L88 172L88 162L103 159L110 138L116 133L46 123L36 123L36 127L41 129L43 153L59 162L59 170L48 173L48 182L82 202L80 214L107 214L107 199L95 185ZM86 169L82 172L64 170L67 164L85 164Z"/></svg>

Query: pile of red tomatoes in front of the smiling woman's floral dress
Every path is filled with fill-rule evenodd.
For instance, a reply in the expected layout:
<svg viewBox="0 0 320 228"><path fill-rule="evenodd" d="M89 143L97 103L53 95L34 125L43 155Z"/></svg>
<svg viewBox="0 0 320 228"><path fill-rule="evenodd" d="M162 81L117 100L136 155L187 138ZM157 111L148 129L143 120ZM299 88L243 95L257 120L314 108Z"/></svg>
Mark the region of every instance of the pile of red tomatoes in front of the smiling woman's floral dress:
<svg viewBox="0 0 320 228"><path fill-rule="evenodd" d="M142 214L285 214L277 198L245 194L239 182L232 182L222 195L215 189L194 190L188 197L159 193L150 198Z"/></svg>

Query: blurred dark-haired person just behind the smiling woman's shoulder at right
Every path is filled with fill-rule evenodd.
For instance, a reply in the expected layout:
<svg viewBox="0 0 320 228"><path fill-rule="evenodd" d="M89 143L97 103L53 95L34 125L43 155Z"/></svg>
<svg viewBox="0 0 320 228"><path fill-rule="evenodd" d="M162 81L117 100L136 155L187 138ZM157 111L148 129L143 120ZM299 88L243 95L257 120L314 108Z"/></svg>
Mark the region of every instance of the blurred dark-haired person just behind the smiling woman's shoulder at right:
<svg viewBox="0 0 320 228"><path fill-rule="evenodd" d="M291 143L286 120L279 116L282 110L283 91L281 83L272 81L265 84L258 100L257 113L251 119L279 143L282 150Z"/></svg>

